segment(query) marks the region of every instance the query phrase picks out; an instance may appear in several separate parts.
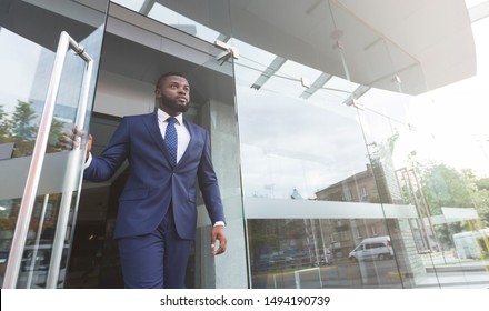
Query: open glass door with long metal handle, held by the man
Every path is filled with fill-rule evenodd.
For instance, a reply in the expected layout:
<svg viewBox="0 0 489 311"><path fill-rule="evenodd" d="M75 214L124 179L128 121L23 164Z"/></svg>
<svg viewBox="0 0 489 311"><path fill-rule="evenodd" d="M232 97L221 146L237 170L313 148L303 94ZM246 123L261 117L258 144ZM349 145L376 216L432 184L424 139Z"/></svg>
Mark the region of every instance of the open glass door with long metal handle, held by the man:
<svg viewBox="0 0 489 311"><path fill-rule="evenodd" d="M0 8L2 288L63 287L84 148L60 139L88 130L104 12L72 1Z"/></svg>

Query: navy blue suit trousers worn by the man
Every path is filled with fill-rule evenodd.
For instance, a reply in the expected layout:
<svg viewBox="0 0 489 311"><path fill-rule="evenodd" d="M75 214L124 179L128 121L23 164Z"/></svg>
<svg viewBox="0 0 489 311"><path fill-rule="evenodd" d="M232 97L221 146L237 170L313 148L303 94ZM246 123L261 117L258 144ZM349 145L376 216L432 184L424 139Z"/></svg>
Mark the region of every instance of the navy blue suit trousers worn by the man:
<svg viewBox="0 0 489 311"><path fill-rule="evenodd" d="M174 228L172 207L151 233L118 240L126 288L182 289L191 240Z"/></svg>

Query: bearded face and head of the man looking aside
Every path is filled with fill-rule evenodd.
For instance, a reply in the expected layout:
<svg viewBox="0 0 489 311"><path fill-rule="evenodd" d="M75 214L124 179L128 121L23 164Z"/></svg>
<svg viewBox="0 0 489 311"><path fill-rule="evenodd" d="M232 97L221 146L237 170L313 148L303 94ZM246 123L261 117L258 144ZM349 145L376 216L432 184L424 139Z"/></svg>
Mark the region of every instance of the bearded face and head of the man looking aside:
<svg viewBox="0 0 489 311"><path fill-rule="evenodd" d="M161 110L170 116L189 110L190 87L186 78L169 76L163 79L156 90L156 97Z"/></svg>

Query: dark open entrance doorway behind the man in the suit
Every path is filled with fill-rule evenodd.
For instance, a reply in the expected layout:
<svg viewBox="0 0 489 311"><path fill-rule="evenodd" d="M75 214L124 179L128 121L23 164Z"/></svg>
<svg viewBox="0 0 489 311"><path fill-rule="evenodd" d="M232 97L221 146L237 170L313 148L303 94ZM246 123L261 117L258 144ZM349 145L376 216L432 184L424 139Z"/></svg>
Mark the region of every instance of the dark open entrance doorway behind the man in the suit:
<svg viewBox="0 0 489 311"><path fill-rule="evenodd" d="M154 110L154 83L167 71L182 72L189 79L191 108L184 118L206 128L211 139L221 132L236 138L236 133L224 130L230 120L236 122L234 81L232 63L216 58L221 52L213 43L111 3L90 123L90 133L94 137L93 154L104 149L123 116ZM221 119L224 113L227 120ZM216 141L212 146L212 153L219 157L229 149L237 149L237 140L219 139L219 143ZM219 171L228 163L214 161L214 165ZM104 183L83 182L67 288L123 287L112 229L127 168L124 163ZM220 182L222 188L223 180ZM207 244L210 223L202 200L198 200L199 230L186 285L212 288L216 268Z"/></svg>

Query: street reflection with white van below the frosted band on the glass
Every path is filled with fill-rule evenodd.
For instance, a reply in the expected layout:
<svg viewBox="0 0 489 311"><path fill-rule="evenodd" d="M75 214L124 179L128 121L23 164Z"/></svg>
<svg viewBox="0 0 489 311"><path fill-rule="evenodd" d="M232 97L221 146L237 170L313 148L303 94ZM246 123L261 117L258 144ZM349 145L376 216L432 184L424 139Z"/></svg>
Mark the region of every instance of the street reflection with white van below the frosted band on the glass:
<svg viewBox="0 0 489 311"><path fill-rule="evenodd" d="M252 287L400 288L396 248L385 235L382 223L383 220L249 220ZM360 231L378 235L353 237L352 232ZM398 247L401 242L396 241Z"/></svg>

